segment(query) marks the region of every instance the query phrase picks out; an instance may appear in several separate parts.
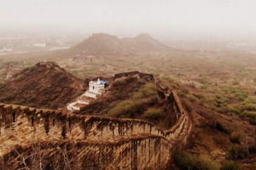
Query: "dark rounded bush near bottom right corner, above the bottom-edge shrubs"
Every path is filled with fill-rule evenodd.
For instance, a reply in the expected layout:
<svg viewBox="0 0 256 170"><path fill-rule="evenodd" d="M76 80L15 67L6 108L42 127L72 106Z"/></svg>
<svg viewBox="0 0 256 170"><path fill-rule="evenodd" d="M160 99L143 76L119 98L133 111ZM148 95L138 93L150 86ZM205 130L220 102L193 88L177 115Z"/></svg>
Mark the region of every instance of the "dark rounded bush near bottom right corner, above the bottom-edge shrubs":
<svg viewBox="0 0 256 170"><path fill-rule="evenodd" d="M229 160L244 159L249 155L249 151L241 146L234 146L226 153L226 158Z"/></svg>

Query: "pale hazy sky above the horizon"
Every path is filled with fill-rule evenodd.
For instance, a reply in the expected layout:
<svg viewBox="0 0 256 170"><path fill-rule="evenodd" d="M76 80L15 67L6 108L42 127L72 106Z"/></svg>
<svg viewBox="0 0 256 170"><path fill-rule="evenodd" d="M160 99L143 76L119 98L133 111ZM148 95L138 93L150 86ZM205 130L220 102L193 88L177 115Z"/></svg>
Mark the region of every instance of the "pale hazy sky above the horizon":
<svg viewBox="0 0 256 170"><path fill-rule="evenodd" d="M0 0L0 29L256 36L255 0Z"/></svg>

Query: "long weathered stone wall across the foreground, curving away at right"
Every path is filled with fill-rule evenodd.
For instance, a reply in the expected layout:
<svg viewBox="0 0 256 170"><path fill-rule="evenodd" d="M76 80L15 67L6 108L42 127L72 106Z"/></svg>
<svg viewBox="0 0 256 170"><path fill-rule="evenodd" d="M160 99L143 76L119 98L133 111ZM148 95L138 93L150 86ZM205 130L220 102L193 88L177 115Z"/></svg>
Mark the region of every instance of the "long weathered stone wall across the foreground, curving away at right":
<svg viewBox="0 0 256 170"><path fill-rule="evenodd" d="M80 168L85 166L82 162L90 162L88 155L93 155L94 163L105 169L165 169L174 149L187 143L192 127L176 92L170 92L166 98L177 121L165 132L143 120L74 112L65 115L56 110L0 103L0 167L4 169L15 158L13 148L22 146L20 152L25 156L32 146L47 141L49 151L60 143L72 146L76 160L81 160L76 163ZM58 152L54 153L56 160ZM9 166L15 169L24 165Z"/></svg>

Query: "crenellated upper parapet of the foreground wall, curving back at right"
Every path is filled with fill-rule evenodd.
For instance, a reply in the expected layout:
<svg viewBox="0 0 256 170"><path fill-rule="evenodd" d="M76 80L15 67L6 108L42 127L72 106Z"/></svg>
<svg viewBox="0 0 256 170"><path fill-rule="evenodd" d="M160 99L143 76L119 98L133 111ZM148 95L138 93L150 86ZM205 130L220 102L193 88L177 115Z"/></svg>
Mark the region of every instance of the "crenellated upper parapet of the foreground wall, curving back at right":
<svg viewBox="0 0 256 170"><path fill-rule="evenodd" d="M120 148L126 148L125 151L129 152L129 157L135 157L135 155L133 155L135 152L131 152L134 144L129 144L135 141L140 143L141 138L154 138L155 143L161 141L160 143L162 144L160 144L160 148L164 149L164 151L168 151L168 154L166 154L163 159L169 161L174 149L182 148L187 143L192 123L176 92L169 92L166 98L171 104L174 114L177 115L177 121L171 129L165 132L158 129L153 123L144 120L78 115L76 112L71 112L66 115L57 110L36 109L15 104L0 103L0 158L3 158L5 155L10 156L12 148L14 146L16 147L17 144L38 143L41 141L69 142L70 140L81 142L81 144L86 143L82 145L87 149L89 147L88 143L97 141L97 146L95 146L98 148L98 150L96 149L97 151L101 151L101 149L102 151L106 151L108 146L116 143L119 145L111 145L108 149L116 149L115 152L118 152ZM126 147L127 143L129 144ZM149 143L144 142L146 147L152 148L153 146L150 146ZM3 144L5 144L5 148L3 148ZM144 146L140 146L136 148L138 149L138 152L136 151L137 155L139 152L144 151L143 147ZM81 150L81 148L79 149ZM80 151L79 149L77 151ZM158 153L163 152L162 150L160 152L160 150L158 148L154 152L160 155ZM148 151L151 151L151 149ZM122 150L122 152L124 151ZM101 154L97 156L101 157ZM143 155L141 155L141 157L143 157ZM118 160L115 158L112 159L119 162L121 158ZM144 157L144 159L146 158ZM7 159L5 158L5 160ZM124 167L133 169L132 161L128 157L126 157L123 162L127 162L127 160L129 160L130 163ZM99 160L96 159L94 161ZM140 168L138 169L147 168L146 166L142 166L143 163L146 163L145 160L138 161L140 161ZM168 165L166 161L160 160L160 158L148 161L154 163L161 161L163 166L166 167ZM105 165L116 169L115 163L106 163ZM157 164L155 167L159 169L162 166Z"/></svg>

